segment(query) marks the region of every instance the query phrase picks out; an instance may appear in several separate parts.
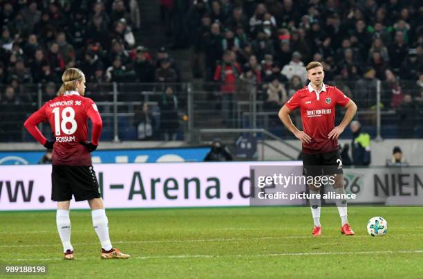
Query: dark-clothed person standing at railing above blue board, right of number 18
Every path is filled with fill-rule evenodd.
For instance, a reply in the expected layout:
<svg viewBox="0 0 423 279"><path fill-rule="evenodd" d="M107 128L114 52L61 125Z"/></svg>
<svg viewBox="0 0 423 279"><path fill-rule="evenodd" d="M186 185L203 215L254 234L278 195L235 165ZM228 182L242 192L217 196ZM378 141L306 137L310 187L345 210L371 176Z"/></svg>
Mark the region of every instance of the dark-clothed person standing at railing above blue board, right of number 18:
<svg viewBox="0 0 423 279"><path fill-rule="evenodd" d="M178 119L178 99L173 94L172 87L166 87L160 107L160 131L164 136L164 141L176 141L179 129Z"/></svg>

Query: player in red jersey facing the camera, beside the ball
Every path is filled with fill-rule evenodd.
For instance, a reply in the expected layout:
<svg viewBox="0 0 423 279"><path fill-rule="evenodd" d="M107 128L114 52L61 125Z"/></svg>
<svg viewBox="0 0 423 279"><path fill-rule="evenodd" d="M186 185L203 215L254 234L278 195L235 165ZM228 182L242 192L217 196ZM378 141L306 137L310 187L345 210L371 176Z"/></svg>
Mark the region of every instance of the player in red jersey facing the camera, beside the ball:
<svg viewBox="0 0 423 279"><path fill-rule="evenodd" d="M297 91L279 111L279 118L285 127L302 143L302 157L304 174L312 177L322 174L332 176L335 192L345 194L342 161L339 156L338 138L344 132L348 123L357 111L357 105L337 87L323 83L325 73L319 62L310 62L306 66L307 78L310 83L307 87ZM335 107L341 105L346 108L346 114L341 123L335 127ZM292 123L290 112L299 108L303 131ZM314 219L312 235L321 234L320 199L316 198L319 188L309 185L310 206ZM341 233L354 235L347 219L346 199L336 199L335 203L341 217Z"/></svg>

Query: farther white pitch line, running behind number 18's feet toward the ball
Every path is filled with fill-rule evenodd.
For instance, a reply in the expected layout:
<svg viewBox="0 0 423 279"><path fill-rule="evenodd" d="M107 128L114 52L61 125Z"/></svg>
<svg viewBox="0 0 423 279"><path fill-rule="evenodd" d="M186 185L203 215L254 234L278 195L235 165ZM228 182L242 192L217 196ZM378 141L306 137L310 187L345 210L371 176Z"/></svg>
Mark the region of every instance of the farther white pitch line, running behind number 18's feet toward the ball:
<svg viewBox="0 0 423 279"><path fill-rule="evenodd" d="M321 237L332 237L321 235ZM355 235L354 237L368 237L368 235ZM298 235L298 236L280 236L280 237L232 237L232 238L211 238L211 239L198 239L198 240L137 240L137 241L118 241L113 242L115 244L143 244L143 243L185 243L185 242L225 242L225 241L239 241L239 240L286 240L286 239L301 239L309 238L312 239L312 235ZM93 243L76 243L75 246L92 245ZM28 248L28 247L50 247L57 246L59 244L22 244L22 245L3 245L0 248Z"/></svg>

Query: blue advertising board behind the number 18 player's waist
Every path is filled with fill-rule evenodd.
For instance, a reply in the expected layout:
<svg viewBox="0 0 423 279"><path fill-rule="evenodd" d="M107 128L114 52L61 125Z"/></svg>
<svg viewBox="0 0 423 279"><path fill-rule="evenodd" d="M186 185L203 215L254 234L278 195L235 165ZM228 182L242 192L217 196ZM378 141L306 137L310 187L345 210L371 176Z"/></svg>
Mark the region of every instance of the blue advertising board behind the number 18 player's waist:
<svg viewBox="0 0 423 279"><path fill-rule="evenodd" d="M161 149L96 150L93 163L156 163L156 162L202 162L210 147L181 147ZM43 151L3 151L0 165L34 165Z"/></svg>

